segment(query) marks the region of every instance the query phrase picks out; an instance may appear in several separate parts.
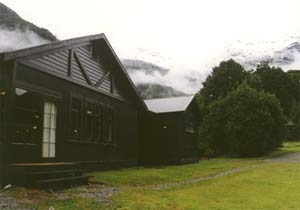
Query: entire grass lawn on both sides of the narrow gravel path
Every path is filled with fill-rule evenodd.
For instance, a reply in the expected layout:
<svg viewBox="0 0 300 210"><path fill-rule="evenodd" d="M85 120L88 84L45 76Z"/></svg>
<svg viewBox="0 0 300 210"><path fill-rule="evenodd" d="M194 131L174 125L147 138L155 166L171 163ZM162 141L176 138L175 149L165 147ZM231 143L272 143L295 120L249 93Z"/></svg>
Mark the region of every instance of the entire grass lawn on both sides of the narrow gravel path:
<svg viewBox="0 0 300 210"><path fill-rule="evenodd" d="M271 154L300 152L300 143L285 143ZM257 165L242 172L216 179L154 190L152 186L208 177L234 168ZM49 193L41 190L12 188L5 192L25 207L33 209L120 209L120 210L299 210L300 164L265 162L259 159L216 158L198 164L136 167L95 172L93 181L122 188L104 205L82 196L82 189ZM98 189L100 190L100 186ZM97 188L96 188L97 189ZM0 192L1 194L2 192Z"/></svg>

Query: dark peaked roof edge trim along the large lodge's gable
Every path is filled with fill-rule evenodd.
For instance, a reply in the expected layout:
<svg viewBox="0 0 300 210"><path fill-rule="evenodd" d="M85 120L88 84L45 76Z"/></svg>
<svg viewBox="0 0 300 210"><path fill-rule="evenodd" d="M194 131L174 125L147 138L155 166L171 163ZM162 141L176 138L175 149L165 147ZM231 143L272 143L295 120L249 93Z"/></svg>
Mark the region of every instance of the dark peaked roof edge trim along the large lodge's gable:
<svg viewBox="0 0 300 210"><path fill-rule="evenodd" d="M11 52L5 52L0 54L3 61L9 61L14 59L23 59L26 57L30 57L33 55L43 54L45 52L51 52L51 51L57 51L60 49L66 49L71 48L73 46L81 46L83 44L88 44L96 40L102 40L106 44L106 47L109 49L109 53L112 55L112 57L115 59L117 65L120 67L120 73L127 79L129 82L129 85L134 92L134 95L137 97L138 101L142 105L143 108L146 108L146 105L144 103L144 100L138 93L135 85L133 84L132 80L130 79L125 67L121 63L120 59L118 58L117 54L113 50L112 46L110 45L108 39L106 38L105 34L96 34L96 35L90 35L90 36L84 36L79 38L73 38L63 41L56 41L49 44L44 44L40 46L25 48L21 50L11 51Z"/></svg>

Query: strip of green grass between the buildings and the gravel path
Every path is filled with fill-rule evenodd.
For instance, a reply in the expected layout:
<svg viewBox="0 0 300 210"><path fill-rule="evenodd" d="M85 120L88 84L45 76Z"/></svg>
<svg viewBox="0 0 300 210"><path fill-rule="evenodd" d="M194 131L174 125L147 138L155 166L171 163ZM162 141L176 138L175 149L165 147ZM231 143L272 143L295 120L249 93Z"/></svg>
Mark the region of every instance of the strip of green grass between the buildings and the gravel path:
<svg viewBox="0 0 300 210"><path fill-rule="evenodd" d="M138 167L118 171L95 172L89 175L94 177L93 181L109 185L144 186L206 177L259 162L261 162L261 159L217 158L200 161L197 164L158 168Z"/></svg>

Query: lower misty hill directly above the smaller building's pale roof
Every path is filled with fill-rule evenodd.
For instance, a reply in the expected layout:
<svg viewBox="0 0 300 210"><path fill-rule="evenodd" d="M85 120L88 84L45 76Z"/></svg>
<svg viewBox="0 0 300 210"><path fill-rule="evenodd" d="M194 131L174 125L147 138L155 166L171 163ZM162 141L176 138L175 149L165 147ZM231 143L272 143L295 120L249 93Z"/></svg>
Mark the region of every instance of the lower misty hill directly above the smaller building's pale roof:
<svg viewBox="0 0 300 210"><path fill-rule="evenodd" d="M174 96L184 96L185 93L178 91L170 86L155 83L140 83L136 85L139 93L144 99L167 98Z"/></svg>

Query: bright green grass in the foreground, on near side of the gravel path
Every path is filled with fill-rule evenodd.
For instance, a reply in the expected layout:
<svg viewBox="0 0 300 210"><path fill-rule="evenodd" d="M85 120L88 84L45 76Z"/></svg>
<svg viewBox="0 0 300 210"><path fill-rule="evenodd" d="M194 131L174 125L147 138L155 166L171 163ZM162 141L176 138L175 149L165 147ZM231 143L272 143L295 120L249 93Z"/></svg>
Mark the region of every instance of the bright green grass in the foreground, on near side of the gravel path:
<svg viewBox="0 0 300 210"><path fill-rule="evenodd" d="M269 163L216 180L168 190L130 189L113 199L118 209L132 210L298 210L299 189L299 164Z"/></svg>

